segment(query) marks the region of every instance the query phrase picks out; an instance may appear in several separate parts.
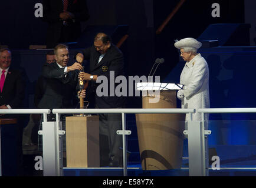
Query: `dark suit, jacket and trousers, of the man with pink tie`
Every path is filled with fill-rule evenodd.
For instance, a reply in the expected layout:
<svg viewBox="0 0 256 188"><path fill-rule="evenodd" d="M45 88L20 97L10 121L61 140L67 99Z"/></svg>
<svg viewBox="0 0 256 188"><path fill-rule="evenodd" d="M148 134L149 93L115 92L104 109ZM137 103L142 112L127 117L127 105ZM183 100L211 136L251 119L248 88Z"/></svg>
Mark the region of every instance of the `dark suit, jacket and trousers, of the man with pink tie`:
<svg viewBox="0 0 256 188"><path fill-rule="evenodd" d="M19 70L9 68L4 88L0 93L0 105L9 105L12 109L23 108L25 96L25 78ZM18 123L1 125L2 175L21 176L22 130L24 115L4 115L1 118L15 118Z"/></svg>

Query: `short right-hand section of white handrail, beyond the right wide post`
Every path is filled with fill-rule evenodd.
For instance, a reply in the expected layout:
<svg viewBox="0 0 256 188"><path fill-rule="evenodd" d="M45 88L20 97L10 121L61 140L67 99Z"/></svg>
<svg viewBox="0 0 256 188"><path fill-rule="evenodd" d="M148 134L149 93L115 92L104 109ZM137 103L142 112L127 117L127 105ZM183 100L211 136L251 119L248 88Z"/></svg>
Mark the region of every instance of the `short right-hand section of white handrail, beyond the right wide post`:
<svg viewBox="0 0 256 188"><path fill-rule="evenodd" d="M202 108L199 113L256 113L256 108Z"/></svg>

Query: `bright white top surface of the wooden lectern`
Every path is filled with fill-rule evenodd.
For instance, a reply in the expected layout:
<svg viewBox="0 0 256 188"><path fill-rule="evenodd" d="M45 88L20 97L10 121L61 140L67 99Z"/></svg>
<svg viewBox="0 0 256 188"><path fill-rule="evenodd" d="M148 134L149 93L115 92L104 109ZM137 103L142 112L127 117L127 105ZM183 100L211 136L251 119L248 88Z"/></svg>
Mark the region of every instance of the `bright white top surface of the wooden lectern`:
<svg viewBox="0 0 256 188"><path fill-rule="evenodd" d="M180 90L183 89L180 83L157 83L157 82L139 82L136 85L137 90Z"/></svg>

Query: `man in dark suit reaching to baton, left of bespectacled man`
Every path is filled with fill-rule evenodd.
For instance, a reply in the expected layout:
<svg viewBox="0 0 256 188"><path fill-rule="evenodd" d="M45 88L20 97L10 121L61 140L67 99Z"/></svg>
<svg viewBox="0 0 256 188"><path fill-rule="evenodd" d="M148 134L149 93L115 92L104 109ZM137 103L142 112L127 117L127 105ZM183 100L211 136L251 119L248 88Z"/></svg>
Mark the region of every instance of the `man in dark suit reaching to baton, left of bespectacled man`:
<svg viewBox="0 0 256 188"><path fill-rule="evenodd" d="M83 69L80 63L75 62L67 66L69 60L68 47L58 44L54 48L55 60L53 63L45 63L42 66L42 76L45 80L45 91L42 99L38 103L41 109L67 109L75 108L74 99L77 96L85 98L86 91L76 91L78 88L78 72ZM65 130L65 116L62 115L63 130ZM55 121L55 115L50 113L48 121ZM40 127L41 129L41 127ZM41 135L38 137L38 150L42 150ZM63 150L65 151L65 135L63 136Z"/></svg>

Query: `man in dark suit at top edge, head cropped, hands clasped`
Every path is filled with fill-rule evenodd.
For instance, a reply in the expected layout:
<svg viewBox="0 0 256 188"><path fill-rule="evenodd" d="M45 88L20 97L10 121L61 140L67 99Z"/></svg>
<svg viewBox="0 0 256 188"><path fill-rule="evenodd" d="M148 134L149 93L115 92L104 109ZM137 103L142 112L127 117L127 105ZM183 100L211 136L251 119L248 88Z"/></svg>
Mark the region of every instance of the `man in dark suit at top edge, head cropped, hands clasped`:
<svg viewBox="0 0 256 188"><path fill-rule="evenodd" d="M80 22L89 19L86 0L43 0L42 5L48 22L47 48L75 42L81 34Z"/></svg>

